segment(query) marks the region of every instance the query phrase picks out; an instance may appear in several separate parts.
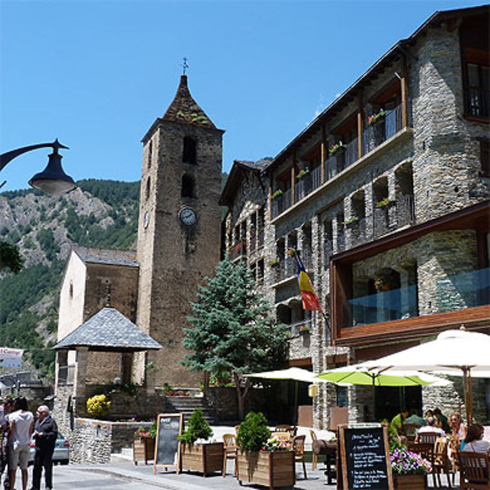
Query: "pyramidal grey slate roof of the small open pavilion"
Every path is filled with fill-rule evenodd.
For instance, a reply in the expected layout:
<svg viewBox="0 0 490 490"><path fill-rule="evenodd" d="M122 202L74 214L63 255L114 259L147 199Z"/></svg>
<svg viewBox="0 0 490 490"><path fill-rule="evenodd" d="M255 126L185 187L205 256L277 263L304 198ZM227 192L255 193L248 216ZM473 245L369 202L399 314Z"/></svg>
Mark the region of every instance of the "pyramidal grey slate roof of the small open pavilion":
<svg viewBox="0 0 490 490"><path fill-rule="evenodd" d="M116 308L102 308L73 332L58 342L53 349L86 346L90 350L141 351L161 349L162 346L139 329Z"/></svg>

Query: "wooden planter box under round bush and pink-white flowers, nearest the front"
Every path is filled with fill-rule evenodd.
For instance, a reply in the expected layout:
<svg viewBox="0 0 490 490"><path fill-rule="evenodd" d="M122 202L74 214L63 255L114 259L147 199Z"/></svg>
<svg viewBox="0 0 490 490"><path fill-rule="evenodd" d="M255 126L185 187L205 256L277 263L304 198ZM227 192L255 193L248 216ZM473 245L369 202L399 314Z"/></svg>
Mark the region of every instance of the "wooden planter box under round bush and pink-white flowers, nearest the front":
<svg viewBox="0 0 490 490"><path fill-rule="evenodd" d="M237 469L240 485L294 488L296 482L294 451L238 451Z"/></svg>

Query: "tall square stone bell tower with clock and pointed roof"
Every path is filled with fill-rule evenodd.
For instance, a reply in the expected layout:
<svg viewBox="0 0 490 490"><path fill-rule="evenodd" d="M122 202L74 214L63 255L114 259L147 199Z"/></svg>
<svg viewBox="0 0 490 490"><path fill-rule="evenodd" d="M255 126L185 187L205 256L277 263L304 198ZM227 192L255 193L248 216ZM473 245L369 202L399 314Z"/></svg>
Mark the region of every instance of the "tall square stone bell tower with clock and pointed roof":
<svg viewBox="0 0 490 490"><path fill-rule="evenodd" d="M181 366L183 328L205 276L220 260L222 136L192 98L187 76L143 137L137 259L137 325L163 345L137 354L134 379L155 386L195 386Z"/></svg>

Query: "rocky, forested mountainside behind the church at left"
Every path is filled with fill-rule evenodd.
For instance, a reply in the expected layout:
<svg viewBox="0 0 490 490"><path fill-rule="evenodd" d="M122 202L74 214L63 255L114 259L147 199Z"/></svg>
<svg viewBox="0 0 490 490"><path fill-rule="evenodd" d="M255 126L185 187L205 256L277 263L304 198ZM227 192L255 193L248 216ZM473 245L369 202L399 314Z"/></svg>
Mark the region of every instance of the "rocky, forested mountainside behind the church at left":
<svg viewBox="0 0 490 490"><path fill-rule="evenodd" d="M0 239L19 247L24 268L0 276L0 346L28 349L27 365L51 376L58 290L71 245L131 248L139 182L81 180L70 194L0 194ZM28 367L28 366L26 366Z"/></svg>

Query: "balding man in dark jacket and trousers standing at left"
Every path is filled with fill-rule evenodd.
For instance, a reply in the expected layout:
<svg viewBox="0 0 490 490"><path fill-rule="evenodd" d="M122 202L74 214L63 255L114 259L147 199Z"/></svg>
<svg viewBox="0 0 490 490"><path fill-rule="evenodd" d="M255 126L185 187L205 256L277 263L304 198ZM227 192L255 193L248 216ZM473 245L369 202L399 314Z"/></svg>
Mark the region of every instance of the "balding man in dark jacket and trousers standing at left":
<svg viewBox="0 0 490 490"><path fill-rule="evenodd" d="M31 490L41 489L43 468L46 490L51 490L53 488L53 451L58 437L58 426L49 415L49 408L46 405L41 405L37 409L36 416L33 434L34 441L36 441L36 451L34 453Z"/></svg>

